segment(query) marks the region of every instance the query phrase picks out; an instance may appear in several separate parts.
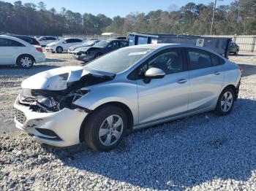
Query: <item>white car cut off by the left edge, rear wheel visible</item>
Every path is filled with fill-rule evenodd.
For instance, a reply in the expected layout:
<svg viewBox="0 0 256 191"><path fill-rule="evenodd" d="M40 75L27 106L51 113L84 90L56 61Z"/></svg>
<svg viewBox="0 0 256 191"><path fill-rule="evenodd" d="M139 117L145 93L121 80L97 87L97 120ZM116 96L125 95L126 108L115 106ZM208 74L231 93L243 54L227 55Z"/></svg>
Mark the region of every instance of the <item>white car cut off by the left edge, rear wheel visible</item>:
<svg viewBox="0 0 256 191"><path fill-rule="evenodd" d="M29 69L34 63L45 62L42 47L12 36L0 35L0 65L18 65Z"/></svg>

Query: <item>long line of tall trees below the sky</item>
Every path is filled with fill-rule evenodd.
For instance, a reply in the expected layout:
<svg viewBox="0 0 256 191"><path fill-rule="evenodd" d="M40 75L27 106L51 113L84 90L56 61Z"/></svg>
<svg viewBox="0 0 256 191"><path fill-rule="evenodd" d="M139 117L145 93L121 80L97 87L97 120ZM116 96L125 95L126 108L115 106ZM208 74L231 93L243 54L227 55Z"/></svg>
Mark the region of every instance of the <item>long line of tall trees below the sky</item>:
<svg viewBox="0 0 256 191"><path fill-rule="evenodd" d="M96 8L97 9L97 8ZM106 15L72 12L64 7L46 9L46 4L0 1L0 31L13 34L62 35L102 34L210 34L214 3L190 2L179 9L158 9L145 13L132 12L111 19ZM256 34L256 1L235 0L215 9L212 34Z"/></svg>

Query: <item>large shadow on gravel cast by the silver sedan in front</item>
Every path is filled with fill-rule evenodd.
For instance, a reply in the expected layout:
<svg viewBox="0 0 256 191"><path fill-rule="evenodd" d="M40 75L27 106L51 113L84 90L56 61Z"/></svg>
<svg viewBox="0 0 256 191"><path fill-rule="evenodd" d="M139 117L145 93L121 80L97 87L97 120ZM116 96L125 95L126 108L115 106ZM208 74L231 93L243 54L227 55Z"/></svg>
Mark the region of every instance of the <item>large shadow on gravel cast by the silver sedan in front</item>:
<svg viewBox="0 0 256 191"><path fill-rule="evenodd" d="M230 115L208 112L140 130L110 152L81 144L54 153L72 168L150 189L246 181L256 170L255 108L256 101L238 99Z"/></svg>

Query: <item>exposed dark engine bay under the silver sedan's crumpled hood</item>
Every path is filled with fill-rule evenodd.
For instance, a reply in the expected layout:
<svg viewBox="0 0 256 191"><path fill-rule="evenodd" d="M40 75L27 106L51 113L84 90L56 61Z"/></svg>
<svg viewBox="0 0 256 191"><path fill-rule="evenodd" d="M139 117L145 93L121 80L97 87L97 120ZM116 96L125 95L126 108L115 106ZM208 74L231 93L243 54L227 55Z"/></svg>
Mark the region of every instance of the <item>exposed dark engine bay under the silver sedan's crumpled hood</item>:
<svg viewBox="0 0 256 191"><path fill-rule="evenodd" d="M67 89L65 90L29 89L23 87L18 96L18 104L28 106L33 112L58 112L64 108L76 109L79 106L75 106L73 103L89 93L90 90L87 87L107 82L114 78L113 75L94 74L91 71L80 77L78 81L74 79L72 82L67 82L70 75L71 73L58 75L62 82L65 81L67 83Z"/></svg>

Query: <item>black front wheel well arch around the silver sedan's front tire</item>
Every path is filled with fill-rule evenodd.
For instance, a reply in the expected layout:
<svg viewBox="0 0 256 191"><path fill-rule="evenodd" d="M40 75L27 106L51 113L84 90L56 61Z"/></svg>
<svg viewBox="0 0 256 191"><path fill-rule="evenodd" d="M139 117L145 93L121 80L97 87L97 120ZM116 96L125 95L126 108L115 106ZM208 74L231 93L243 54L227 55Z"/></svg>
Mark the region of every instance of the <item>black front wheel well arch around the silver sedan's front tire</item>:
<svg viewBox="0 0 256 191"><path fill-rule="evenodd" d="M112 102L108 102L106 104L102 104L101 106L98 106L96 109L94 109L94 111L101 109L102 107L105 106L118 106L121 109L124 109L124 112L127 114L127 118L128 118L128 130L131 131L132 130L132 126L133 126L133 115L132 115L132 111L131 109L129 109L129 107L121 102L118 101L112 101ZM91 113L93 113L94 111L92 111ZM88 118L90 117L91 113L89 113L86 118L83 120L82 125L80 126L80 132L79 132L79 139L80 142L84 141L83 140L83 132L84 132L84 128L83 126L85 125L86 121L88 120Z"/></svg>

